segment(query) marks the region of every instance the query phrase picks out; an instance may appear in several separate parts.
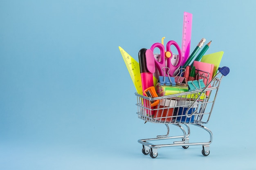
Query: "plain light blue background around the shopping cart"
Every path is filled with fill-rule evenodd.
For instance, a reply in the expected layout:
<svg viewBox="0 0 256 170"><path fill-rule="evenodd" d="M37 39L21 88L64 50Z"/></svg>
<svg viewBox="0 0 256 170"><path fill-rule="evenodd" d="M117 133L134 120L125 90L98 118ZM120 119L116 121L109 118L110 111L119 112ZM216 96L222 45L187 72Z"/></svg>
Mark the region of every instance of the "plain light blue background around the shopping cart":
<svg viewBox="0 0 256 170"><path fill-rule="evenodd" d="M256 169L255 5L1 0L0 169ZM221 66L230 73L207 124L210 155L202 156L202 146L171 147L152 159L137 140L166 129L137 118L118 46L137 59L139 49L164 36L181 44L184 11L193 14L191 49L212 40L206 54L224 51ZM192 127L190 139L208 140L203 134Z"/></svg>

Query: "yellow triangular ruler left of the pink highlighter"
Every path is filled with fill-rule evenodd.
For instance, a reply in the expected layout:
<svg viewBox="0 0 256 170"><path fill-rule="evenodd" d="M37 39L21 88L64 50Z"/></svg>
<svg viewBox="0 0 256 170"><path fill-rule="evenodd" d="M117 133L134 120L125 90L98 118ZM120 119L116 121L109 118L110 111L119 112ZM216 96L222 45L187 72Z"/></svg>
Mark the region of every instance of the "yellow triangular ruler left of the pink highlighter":
<svg viewBox="0 0 256 170"><path fill-rule="evenodd" d="M132 58L128 53L126 53L126 51L124 51L124 49L122 49L121 46L119 46L119 50L121 52L121 55L123 56L124 62L130 73L132 82L136 88L137 93L143 95L139 63L134 58Z"/></svg>

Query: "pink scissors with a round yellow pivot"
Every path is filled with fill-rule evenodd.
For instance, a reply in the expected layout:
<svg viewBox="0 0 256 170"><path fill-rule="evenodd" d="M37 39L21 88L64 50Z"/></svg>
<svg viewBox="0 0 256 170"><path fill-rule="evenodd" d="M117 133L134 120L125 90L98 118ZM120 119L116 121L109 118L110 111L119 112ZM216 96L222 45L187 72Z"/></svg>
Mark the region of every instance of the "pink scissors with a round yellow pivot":
<svg viewBox="0 0 256 170"><path fill-rule="evenodd" d="M175 66L171 63L171 59L173 58L173 52L171 51L171 45L174 45L179 53L178 62ZM155 60L155 66L156 66L157 70L159 71L160 76L168 76L168 73L166 73L166 71L164 71L162 69L163 67L166 67L165 58L166 58L166 62L167 62L167 67L170 68L169 75L173 76L173 73L177 70L177 68L180 67L180 65L182 63L182 53L180 50L180 46L177 44L177 42L171 40L171 41L167 42L167 44L166 44L166 52L164 50L164 45L159 42L153 44L151 46L150 50L154 51L154 49L156 47L160 49L160 61L157 61L155 58L154 58L154 60Z"/></svg>

